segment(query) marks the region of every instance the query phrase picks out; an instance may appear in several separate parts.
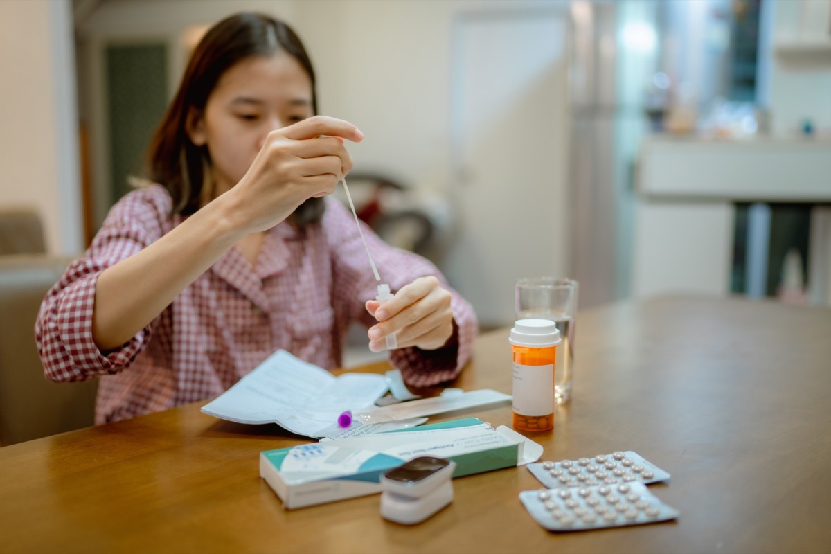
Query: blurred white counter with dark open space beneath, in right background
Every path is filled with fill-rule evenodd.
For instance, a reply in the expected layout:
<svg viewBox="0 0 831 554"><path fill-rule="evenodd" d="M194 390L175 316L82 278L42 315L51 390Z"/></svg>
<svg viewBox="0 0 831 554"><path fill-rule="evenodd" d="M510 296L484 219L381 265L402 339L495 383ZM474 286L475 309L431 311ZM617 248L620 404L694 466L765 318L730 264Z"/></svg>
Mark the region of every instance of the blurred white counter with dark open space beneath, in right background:
<svg viewBox="0 0 831 554"><path fill-rule="evenodd" d="M831 141L650 137L638 159L632 294L726 294L735 202L831 202ZM809 279L831 303L829 210L814 208Z"/></svg>

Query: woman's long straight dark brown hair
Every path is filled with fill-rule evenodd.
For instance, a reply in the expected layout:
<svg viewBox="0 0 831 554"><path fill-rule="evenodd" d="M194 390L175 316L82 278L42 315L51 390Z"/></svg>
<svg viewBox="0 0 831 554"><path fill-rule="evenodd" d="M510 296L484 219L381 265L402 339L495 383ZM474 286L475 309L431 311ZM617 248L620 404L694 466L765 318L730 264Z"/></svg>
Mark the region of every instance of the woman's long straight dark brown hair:
<svg viewBox="0 0 831 554"><path fill-rule="evenodd" d="M226 17L205 33L190 56L179 91L150 142L150 179L162 184L173 199L173 213L190 215L199 209L210 158L207 146L191 142L186 121L191 109L204 113L208 96L225 71L249 56L286 51L300 62L312 81L312 113L317 114L317 91L312 61L300 38L283 22L260 13ZM289 220L296 225L320 220L322 199L307 199Z"/></svg>

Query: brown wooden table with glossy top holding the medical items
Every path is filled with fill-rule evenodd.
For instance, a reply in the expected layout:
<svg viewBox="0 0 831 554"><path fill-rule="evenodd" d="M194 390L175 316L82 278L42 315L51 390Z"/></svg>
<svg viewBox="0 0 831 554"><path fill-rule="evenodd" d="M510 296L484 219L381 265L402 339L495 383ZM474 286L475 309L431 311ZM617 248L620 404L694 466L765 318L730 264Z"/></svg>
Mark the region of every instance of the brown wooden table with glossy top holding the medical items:
<svg viewBox="0 0 831 554"><path fill-rule="evenodd" d="M548 532L519 503L539 488L526 468L455 479L415 527L378 495L284 510L258 453L307 439L199 403L0 449L0 552L831 551L831 311L661 297L578 321L543 460L634 450L671 473L650 488L674 522ZM489 333L455 385L510 392L510 367L507 331ZM509 405L469 414L510 424Z"/></svg>

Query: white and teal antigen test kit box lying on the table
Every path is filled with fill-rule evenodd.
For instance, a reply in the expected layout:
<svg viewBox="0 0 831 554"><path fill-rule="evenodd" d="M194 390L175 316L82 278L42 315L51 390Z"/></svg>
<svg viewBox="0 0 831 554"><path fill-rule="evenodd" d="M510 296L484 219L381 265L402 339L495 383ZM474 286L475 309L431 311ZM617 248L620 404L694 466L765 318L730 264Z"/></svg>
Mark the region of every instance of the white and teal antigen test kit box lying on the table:
<svg viewBox="0 0 831 554"><path fill-rule="evenodd" d="M534 461L524 453L538 444L479 419L333 439L260 453L260 477L288 509L381 492L381 475L417 456L448 458L453 477ZM539 448L537 458L542 453Z"/></svg>

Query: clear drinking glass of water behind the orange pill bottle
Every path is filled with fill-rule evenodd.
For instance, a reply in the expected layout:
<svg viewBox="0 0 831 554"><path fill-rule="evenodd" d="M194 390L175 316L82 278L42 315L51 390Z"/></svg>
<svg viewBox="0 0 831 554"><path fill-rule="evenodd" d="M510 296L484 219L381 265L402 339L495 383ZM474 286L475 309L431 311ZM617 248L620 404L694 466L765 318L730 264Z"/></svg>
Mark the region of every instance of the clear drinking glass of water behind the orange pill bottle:
<svg viewBox="0 0 831 554"><path fill-rule="evenodd" d="M518 319L548 319L557 324L563 342L554 365L554 398L568 402L574 381L574 331L577 325L578 282L561 277L525 277L516 283Z"/></svg>

